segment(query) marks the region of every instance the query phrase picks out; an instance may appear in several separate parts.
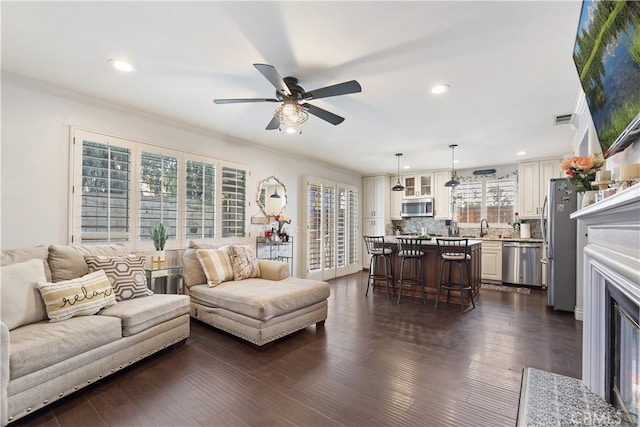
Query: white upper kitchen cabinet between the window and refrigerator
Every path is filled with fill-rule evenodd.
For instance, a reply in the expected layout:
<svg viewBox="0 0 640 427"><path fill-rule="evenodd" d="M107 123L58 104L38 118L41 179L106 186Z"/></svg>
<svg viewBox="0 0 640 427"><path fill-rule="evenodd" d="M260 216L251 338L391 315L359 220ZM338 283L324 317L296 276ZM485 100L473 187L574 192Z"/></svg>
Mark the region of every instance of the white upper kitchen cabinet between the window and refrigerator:
<svg viewBox="0 0 640 427"><path fill-rule="evenodd" d="M520 218L540 218L549 180L562 177L560 159L518 163L518 212Z"/></svg>

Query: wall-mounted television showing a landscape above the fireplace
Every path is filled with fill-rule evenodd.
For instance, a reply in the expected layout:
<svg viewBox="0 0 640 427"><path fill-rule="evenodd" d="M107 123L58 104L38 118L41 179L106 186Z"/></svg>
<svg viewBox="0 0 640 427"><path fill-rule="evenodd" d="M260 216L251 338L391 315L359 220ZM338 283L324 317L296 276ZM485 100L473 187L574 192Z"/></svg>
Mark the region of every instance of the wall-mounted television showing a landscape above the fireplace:
<svg viewBox="0 0 640 427"><path fill-rule="evenodd" d="M640 139L640 1L583 1L573 60L611 157Z"/></svg>

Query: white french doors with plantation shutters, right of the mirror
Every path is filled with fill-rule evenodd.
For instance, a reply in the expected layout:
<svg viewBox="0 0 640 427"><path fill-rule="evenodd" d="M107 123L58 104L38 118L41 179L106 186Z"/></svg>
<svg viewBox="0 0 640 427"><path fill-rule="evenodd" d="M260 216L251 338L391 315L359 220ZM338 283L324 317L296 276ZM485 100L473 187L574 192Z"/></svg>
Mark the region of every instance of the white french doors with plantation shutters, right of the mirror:
<svg viewBox="0 0 640 427"><path fill-rule="evenodd" d="M320 178L304 180L306 277L328 280L359 271L358 189Z"/></svg>

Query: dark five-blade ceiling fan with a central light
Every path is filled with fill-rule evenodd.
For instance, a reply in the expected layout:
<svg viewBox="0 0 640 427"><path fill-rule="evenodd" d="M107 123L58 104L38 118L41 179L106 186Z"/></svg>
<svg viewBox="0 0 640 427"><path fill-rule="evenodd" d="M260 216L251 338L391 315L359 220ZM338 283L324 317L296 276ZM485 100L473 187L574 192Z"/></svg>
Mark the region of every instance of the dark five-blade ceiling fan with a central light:
<svg viewBox="0 0 640 427"><path fill-rule="evenodd" d="M280 129L280 125L283 124L287 126L300 125L309 118L309 114L313 114L333 125L339 125L344 121L344 117L303 101L362 92L360 83L355 80L306 92L302 87L298 86L297 78L282 78L273 65L253 64L253 66L276 88L275 98L214 99L213 102L216 104L280 102L280 106L273 113L273 118L267 125L267 130ZM301 101L303 102L302 104L300 103Z"/></svg>

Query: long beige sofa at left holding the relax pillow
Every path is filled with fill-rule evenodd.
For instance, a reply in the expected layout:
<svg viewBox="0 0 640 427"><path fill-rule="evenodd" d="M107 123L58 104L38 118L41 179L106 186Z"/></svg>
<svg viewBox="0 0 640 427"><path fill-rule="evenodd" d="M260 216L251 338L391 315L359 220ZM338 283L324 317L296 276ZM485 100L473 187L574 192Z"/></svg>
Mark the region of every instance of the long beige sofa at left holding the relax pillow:
<svg viewBox="0 0 640 427"><path fill-rule="evenodd" d="M139 265L128 252L123 245L2 251L1 425L189 336L188 297L149 295L137 267L122 276L130 273L122 282L133 285L119 288L112 275L119 272L91 272L86 262Z"/></svg>

